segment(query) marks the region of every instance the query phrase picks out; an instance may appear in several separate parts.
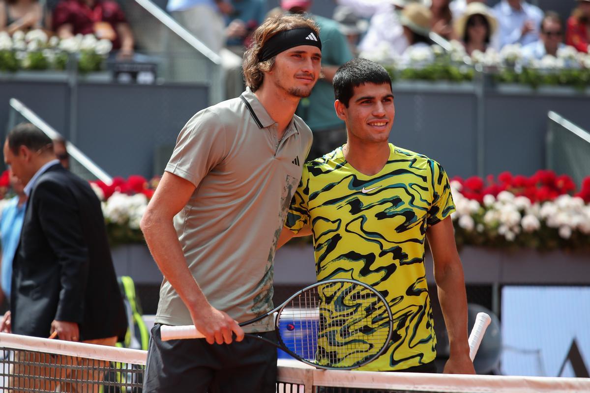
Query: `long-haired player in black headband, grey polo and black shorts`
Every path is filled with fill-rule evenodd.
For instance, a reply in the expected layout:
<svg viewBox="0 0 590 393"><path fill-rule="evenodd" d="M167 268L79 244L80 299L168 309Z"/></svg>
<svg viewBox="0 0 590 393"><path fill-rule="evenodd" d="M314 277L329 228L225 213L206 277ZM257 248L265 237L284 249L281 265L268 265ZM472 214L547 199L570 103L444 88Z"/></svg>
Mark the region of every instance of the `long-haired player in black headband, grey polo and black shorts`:
<svg viewBox="0 0 590 393"><path fill-rule="evenodd" d="M247 90L182 129L141 223L164 276L144 392L275 391L276 348L244 338L276 339L273 318L238 322L273 308L274 252L312 144L294 113L321 49L312 20L268 19L244 55ZM160 326L190 324L205 338L162 341Z"/></svg>

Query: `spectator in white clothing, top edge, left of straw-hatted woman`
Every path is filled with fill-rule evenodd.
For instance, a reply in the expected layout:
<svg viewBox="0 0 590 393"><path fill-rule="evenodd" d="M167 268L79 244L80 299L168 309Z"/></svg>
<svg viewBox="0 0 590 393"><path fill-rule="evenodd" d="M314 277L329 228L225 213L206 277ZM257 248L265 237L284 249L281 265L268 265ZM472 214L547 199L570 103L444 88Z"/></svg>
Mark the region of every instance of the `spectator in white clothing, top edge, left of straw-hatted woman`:
<svg viewBox="0 0 590 393"><path fill-rule="evenodd" d="M359 52L384 51L388 58L399 58L408 47L404 29L399 22L399 11L419 0L338 0L338 4L352 8L355 14L371 18L369 27L359 44Z"/></svg>

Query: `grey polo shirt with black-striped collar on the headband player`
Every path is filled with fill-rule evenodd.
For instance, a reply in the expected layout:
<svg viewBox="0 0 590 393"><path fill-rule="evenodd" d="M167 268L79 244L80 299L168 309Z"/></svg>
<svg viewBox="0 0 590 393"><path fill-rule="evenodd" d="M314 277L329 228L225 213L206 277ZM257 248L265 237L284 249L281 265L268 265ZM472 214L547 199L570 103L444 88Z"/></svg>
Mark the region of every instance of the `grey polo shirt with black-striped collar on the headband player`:
<svg viewBox="0 0 590 393"><path fill-rule="evenodd" d="M238 322L273 308L274 252L311 145L312 131L297 115L278 140L276 122L250 89L200 111L178 136L166 171L196 189L174 217L176 233L211 305ZM192 324L166 279L156 322ZM273 321L244 330L270 331Z"/></svg>

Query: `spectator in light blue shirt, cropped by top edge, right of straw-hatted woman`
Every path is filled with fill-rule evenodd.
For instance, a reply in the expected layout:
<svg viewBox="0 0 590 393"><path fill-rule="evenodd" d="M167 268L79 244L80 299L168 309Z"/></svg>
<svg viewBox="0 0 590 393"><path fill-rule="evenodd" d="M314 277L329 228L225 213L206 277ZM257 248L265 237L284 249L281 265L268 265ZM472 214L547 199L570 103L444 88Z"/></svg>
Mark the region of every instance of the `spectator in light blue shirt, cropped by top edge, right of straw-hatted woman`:
<svg viewBox="0 0 590 393"><path fill-rule="evenodd" d="M498 49L508 44L526 45L539 39L543 11L524 0L501 0L493 8L499 24Z"/></svg>

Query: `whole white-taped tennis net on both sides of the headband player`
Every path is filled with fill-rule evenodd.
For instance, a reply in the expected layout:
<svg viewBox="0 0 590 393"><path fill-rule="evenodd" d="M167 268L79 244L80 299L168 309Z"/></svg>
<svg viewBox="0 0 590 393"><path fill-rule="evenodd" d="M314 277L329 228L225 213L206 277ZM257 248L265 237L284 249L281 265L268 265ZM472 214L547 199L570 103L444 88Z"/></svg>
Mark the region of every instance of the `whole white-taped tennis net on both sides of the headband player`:
<svg viewBox="0 0 590 393"><path fill-rule="evenodd" d="M146 355L137 349L0 333L0 388L7 393L139 393ZM590 392L590 379L333 371L294 360L278 362L277 393L411 392Z"/></svg>

